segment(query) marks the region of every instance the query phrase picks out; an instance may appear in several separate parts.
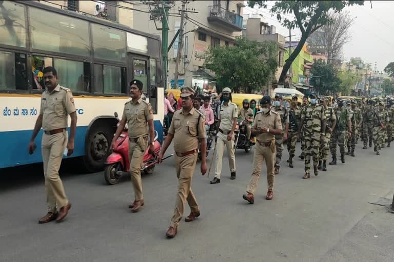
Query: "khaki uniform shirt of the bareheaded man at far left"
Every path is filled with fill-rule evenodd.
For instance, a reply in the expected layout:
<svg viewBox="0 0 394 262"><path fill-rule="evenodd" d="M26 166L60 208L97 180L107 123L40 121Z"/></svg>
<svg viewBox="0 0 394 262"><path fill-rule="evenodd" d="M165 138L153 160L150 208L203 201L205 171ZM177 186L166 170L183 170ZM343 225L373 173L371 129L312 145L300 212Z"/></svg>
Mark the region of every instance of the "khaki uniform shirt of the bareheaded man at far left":
<svg viewBox="0 0 394 262"><path fill-rule="evenodd" d="M70 89L57 84L52 92L45 90L41 95L40 115L45 131L66 128L68 115L73 112L75 105Z"/></svg>

